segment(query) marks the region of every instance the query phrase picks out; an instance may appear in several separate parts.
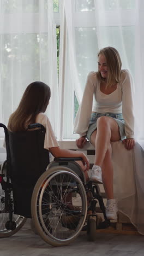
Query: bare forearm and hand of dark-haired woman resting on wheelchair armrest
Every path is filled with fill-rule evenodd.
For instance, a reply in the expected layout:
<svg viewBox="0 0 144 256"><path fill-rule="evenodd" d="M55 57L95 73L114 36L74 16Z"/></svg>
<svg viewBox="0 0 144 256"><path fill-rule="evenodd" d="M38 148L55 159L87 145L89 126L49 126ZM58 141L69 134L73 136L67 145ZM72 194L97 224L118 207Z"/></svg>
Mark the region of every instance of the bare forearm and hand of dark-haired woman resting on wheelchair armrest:
<svg viewBox="0 0 144 256"><path fill-rule="evenodd" d="M59 147L49 148L49 151L55 158L82 158L83 162L87 165L87 170L89 170L89 160L82 152Z"/></svg>

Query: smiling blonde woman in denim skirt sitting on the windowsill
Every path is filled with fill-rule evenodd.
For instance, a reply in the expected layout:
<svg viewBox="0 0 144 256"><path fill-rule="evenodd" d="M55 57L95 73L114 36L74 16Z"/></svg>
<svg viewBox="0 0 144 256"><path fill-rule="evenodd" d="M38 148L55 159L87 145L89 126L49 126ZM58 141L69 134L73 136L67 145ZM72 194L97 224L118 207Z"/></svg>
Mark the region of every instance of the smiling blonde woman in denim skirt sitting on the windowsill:
<svg viewBox="0 0 144 256"><path fill-rule="evenodd" d="M121 57L115 48L99 51L98 72L88 74L74 126L74 132L80 135L77 147L82 148L86 138L95 147L91 179L104 184L109 219L117 219L111 142L122 140L128 150L135 145L133 81L129 71L121 67Z"/></svg>

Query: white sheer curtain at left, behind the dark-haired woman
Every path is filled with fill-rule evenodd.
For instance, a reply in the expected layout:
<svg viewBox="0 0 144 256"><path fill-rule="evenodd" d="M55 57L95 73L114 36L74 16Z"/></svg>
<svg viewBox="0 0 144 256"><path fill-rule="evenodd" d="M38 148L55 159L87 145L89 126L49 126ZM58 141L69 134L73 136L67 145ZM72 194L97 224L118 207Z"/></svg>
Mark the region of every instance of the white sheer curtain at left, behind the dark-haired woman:
<svg viewBox="0 0 144 256"><path fill-rule="evenodd" d="M0 1L0 121L19 104L29 83L40 80L51 88L47 110L57 132L57 44L52 0Z"/></svg>

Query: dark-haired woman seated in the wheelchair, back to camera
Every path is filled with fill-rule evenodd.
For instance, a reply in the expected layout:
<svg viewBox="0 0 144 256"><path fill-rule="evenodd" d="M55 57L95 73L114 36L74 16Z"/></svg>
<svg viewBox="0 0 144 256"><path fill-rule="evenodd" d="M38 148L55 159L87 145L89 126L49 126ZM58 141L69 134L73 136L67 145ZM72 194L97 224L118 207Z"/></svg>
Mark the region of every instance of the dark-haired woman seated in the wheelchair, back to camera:
<svg viewBox="0 0 144 256"><path fill-rule="evenodd" d="M20 104L13 114L10 115L8 129L12 132L26 131L29 124L40 123L45 129L44 148L55 158L82 158L79 165L85 172L89 170L89 160L82 152L62 149L55 138L49 118L45 110L49 105L51 96L50 87L43 82L29 84L21 98Z"/></svg>

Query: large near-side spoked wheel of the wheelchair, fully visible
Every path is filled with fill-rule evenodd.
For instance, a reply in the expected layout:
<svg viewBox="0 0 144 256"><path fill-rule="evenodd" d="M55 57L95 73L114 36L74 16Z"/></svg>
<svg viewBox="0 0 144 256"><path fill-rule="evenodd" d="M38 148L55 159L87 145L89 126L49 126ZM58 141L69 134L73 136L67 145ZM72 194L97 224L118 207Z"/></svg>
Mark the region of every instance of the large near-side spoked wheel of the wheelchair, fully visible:
<svg viewBox="0 0 144 256"><path fill-rule="evenodd" d="M86 191L80 178L64 166L48 169L35 185L31 212L45 242L68 245L79 235L87 215Z"/></svg>

